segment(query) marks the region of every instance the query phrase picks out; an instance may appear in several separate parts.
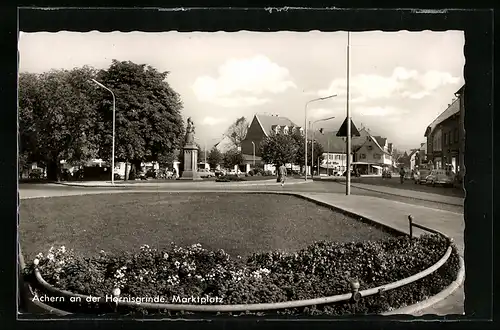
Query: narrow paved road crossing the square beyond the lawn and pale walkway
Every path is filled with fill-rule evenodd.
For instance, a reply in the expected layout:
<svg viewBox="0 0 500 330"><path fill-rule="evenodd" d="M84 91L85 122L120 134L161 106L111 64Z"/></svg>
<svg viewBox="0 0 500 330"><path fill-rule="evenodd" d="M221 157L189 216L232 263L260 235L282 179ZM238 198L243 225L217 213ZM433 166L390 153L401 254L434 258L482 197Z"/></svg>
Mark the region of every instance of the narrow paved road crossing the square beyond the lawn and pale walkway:
<svg viewBox="0 0 500 330"><path fill-rule="evenodd" d="M400 188L400 187L398 187ZM47 196L47 195L65 195L65 194L82 194L82 193L93 193L93 192L106 192L113 188L90 188L90 187L71 187L64 186L58 184L20 184L19 189L21 192L21 196ZM255 191L286 191L286 192L317 192L317 193L344 193L345 185L342 183L334 182L334 181L315 181L307 184L290 184L284 187L281 187L279 184L267 184L261 186L248 186L244 185L234 186L228 184L223 188L216 188L211 184L201 184L193 186L193 184L186 185L175 185L175 187L157 187L154 185L151 186L141 186L141 187L120 187L121 191L130 191L134 190L148 190L148 191L189 191L189 190L200 190L200 191L247 191L247 190L255 190ZM373 196L384 198L388 200L394 200L402 203L412 204L412 205L421 205L429 208L445 210L454 213L463 214L464 208L463 206L458 205L448 205L439 203L436 201L425 201L411 197L403 197L403 196L394 196L389 195L383 192L376 191L367 191L365 189L358 189L356 187L351 187L351 194L353 195L362 195L362 196Z"/></svg>

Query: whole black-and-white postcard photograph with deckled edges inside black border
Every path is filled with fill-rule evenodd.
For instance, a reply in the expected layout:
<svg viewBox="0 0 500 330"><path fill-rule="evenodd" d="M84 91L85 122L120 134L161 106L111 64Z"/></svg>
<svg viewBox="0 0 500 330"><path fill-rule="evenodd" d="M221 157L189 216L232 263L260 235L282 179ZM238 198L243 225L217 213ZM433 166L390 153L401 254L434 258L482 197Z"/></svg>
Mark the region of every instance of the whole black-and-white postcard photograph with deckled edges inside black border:
<svg viewBox="0 0 500 330"><path fill-rule="evenodd" d="M19 313L464 315L464 45L21 28Z"/></svg>

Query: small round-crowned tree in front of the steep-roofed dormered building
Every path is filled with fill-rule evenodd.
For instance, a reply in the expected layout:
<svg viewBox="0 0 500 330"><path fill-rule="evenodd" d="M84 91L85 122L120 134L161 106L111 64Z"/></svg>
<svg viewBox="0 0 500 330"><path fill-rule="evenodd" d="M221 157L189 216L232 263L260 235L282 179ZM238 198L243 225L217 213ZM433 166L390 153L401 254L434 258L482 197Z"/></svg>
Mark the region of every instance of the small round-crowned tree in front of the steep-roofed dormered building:
<svg viewBox="0 0 500 330"><path fill-rule="evenodd" d="M260 143L260 148L262 160L275 166L294 163L298 151L296 139L290 134L271 134Z"/></svg>

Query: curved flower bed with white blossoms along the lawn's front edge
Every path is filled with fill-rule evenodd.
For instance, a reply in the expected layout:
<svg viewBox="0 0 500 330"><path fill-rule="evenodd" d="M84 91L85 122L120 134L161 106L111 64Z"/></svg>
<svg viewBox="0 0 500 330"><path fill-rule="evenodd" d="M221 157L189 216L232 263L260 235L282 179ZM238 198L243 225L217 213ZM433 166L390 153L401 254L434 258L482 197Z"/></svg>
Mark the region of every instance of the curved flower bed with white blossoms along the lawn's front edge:
<svg viewBox="0 0 500 330"><path fill-rule="evenodd" d="M206 297L217 304L276 303L320 298L350 292L350 280L360 290L407 278L434 265L448 248L446 238L424 235L389 238L362 243L317 242L293 254L259 253L243 260L222 250L208 251L200 245L172 245L157 251L141 247L136 254L122 253L85 258L64 247L38 256L38 269L50 285L72 293L105 297L120 289L121 298ZM373 314L401 308L442 291L457 277L459 257L454 249L448 261L431 275L402 286L363 297L354 307L340 301L265 314L345 315ZM34 264L25 272L37 290ZM38 295L48 294L38 286ZM155 301L156 302L156 301ZM196 303L196 301L195 301ZM71 312L112 312L116 305L59 302L54 307ZM161 310L119 308L123 313L170 313ZM261 315L262 313L258 313Z"/></svg>

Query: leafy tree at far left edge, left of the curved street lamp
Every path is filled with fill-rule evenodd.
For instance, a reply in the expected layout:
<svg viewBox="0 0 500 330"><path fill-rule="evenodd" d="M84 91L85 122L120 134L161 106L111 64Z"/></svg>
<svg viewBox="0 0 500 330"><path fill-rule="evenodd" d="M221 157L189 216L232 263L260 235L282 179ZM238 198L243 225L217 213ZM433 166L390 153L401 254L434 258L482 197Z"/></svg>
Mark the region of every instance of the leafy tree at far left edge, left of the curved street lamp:
<svg viewBox="0 0 500 330"><path fill-rule="evenodd" d="M19 76L21 154L47 165L49 180L60 178L60 161L96 156L100 139L95 69L52 70Z"/></svg>

